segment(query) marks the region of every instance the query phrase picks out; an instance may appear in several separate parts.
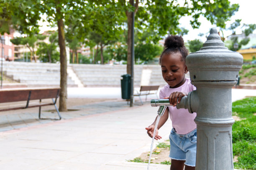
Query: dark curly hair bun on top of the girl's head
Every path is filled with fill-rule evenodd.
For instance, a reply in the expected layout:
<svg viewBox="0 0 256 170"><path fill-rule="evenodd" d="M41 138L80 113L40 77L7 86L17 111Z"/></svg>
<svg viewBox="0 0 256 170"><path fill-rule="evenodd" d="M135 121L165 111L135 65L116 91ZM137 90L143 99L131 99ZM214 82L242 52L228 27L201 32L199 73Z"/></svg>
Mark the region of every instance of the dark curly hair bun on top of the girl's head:
<svg viewBox="0 0 256 170"><path fill-rule="evenodd" d="M184 47L184 40L180 35L168 35L164 41L165 48Z"/></svg>

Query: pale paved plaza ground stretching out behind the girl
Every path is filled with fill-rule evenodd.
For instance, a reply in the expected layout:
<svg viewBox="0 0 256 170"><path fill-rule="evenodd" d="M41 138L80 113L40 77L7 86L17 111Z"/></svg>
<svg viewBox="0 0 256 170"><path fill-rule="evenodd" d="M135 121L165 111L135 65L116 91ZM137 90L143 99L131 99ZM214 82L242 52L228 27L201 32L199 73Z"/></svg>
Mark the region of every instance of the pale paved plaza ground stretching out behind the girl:
<svg viewBox="0 0 256 170"><path fill-rule="evenodd" d="M63 120L60 121L38 120L38 108L22 113L19 110L2 112L0 169L146 170L147 164L127 160L150 151L151 138L145 127L155 119L158 107L151 107L149 102L129 107L115 94L117 90L107 88L94 92L87 88L72 90L71 93L68 89L69 97L92 94L99 98L102 90L107 93L103 96L116 100L76 106L74 111L61 112ZM252 95L256 96L256 90L232 90L233 100ZM155 98L149 99L152 97ZM169 136L171 122L168 121L159 131L162 140ZM151 164L150 167L151 170L169 170L169 165Z"/></svg>

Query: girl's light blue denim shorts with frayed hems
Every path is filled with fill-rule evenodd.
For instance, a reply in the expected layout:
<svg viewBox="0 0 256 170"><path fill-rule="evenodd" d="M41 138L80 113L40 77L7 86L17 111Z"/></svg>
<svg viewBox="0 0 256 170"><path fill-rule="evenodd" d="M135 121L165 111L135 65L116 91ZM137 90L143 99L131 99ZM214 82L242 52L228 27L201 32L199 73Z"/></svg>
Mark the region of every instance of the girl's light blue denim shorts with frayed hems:
<svg viewBox="0 0 256 170"><path fill-rule="evenodd" d="M186 160L185 165L195 167L197 153L197 129L192 132L179 135L172 128L170 139L170 155L174 160Z"/></svg>

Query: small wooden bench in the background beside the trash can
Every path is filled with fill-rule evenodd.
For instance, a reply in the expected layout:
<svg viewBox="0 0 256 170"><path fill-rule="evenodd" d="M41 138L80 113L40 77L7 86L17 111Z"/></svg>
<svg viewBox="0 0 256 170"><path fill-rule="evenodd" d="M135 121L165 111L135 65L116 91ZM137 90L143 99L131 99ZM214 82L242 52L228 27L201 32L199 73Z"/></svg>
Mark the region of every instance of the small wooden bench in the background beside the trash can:
<svg viewBox="0 0 256 170"><path fill-rule="evenodd" d="M140 91L135 90L137 92L137 94L133 94L133 96L138 96L138 97L140 97L140 100L141 100L141 96L146 95L145 101L147 101L148 95L156 95L156 98L157 98L158 89L159 89L159 85L142 85L140 88ZM141 100L141 104L143 105L142 100Z"/></svg>

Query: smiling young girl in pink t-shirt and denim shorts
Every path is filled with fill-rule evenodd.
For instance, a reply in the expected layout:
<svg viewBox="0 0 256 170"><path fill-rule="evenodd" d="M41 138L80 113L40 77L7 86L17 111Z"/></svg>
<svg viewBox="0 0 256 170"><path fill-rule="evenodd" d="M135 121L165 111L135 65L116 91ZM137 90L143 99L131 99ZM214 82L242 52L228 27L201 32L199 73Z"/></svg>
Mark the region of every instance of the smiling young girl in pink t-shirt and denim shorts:
<svg viewBox="0 0 256 170"><path fill-rule="evenodd" d="M161 116L155 139L161 139L158 129L170 118L172 120L172 130L169 135L171 170L195 170L196 148L197 148L197 125L194 122L196 113L189 113L186 109L177 109L175 106L180 102L182 96L188 94L196 87L185 77L188 72L185 58L188 50L184 46L181 36L169 35L164 42L164 51L159 58L162 75L168 85L161 88L159 97L168 99L172 106L166 108ZM146 128L148 135L152 138L156 120Z"/></svg>

